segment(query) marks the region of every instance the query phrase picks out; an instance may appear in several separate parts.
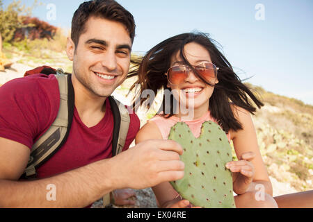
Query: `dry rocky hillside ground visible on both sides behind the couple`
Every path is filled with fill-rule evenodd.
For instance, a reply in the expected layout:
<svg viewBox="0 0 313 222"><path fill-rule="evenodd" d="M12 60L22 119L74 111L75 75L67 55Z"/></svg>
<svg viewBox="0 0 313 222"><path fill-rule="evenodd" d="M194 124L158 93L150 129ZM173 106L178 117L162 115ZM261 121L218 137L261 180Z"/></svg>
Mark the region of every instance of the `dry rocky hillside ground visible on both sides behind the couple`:
<svg viewBox="0 0 313 222"><path fill-rule="evenodd" d="M67 60L64 52L46 51L43 56L33 56L14 47L7 47L4 53L14 64L10 69L0 72L0 85L10 79L22 77L26 70L41 65L63 67L69 72L72 70L72 63ZM130 104L126 94L133 81L127 80L118 87L114 92L115 97ZM250 87L265 104L252 118L259 148L273 184L273 196L313 189L313 106L266 92L261 87ZM155 110L138 112L141 126L154 113ZM156 206L151 190L137 192L139 202L136 207ZM150 200L148 204L147 199ZM95 207L97 206L99 204Z"/></svg>

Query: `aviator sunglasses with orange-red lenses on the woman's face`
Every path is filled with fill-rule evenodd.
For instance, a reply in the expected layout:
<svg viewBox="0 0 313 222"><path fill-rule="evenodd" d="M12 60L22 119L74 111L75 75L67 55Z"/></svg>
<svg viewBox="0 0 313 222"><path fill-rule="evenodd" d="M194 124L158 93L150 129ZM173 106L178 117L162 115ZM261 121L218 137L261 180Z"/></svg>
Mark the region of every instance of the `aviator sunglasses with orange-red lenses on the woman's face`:
<svg viewBox="0 0 313 222"><path fill-rule="evenodd" d="M207 80L209 83L214 83L219 68L211 62L202 62L199 65L194 66L194 69L202 78L204 78L204 80ZM187 65L175 65L170 67L165 75L168 77L168 82L170 84L179 85L184 83L190 70L191 68Z"/></svg>

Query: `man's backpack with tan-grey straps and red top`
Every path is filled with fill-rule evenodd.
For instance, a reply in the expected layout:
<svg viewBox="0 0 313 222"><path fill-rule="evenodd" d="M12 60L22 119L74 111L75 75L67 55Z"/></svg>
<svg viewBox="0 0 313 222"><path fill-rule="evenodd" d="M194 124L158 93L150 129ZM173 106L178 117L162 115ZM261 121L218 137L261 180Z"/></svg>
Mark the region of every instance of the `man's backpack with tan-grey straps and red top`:
<svg viewBox="0 0 313 222"><path fill-rule="evenodd" d="M37 176L35 169L47 162L63 146L70 133L74 113L74 89L71 74L65 74L62 69L56 70L43 66L26 71L24 76L32 74L54 74L58 80L61 99L56 119L31 148L30 159L23 174L24 178L35 178ZM130 117L125 105L114 99L113 96L109 96L108 99L114 119L112 156L115 156L122 151L125 145ZM110 203L110 194L106 194L103 201L104 205L108 205Z"/></svg>

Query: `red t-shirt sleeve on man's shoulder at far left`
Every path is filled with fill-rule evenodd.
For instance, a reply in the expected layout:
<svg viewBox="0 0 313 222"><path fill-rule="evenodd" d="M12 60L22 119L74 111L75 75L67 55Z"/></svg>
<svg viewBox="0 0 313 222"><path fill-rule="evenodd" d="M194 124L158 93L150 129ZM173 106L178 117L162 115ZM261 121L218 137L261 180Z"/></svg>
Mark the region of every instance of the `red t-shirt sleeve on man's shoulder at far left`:
<svg viewBox="0 0 313 222"><path fill-rule="evenodd" d="M56 118L57 98L58 82L53 75L17 78L1 86L0 137L31 148Z"/></svg>

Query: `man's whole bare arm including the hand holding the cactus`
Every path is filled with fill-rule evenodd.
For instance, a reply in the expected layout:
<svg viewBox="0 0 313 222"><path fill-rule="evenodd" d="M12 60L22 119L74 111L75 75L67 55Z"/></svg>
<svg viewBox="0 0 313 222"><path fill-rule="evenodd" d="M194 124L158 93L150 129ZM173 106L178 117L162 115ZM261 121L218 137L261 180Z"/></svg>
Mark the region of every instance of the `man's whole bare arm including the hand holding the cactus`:
<svg viewBox="0 0 313 222"><path fill-rule="evenodd" d="M184 176L177 155L182 148L163 140L143 142L51 178L23 182L16 180L29 160L29 148L0 137L0 153L0 207L86 207L113 189L142 189ZM48 185L56 188L56 200L47 198L53 191Z"/></svg>

